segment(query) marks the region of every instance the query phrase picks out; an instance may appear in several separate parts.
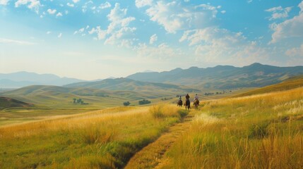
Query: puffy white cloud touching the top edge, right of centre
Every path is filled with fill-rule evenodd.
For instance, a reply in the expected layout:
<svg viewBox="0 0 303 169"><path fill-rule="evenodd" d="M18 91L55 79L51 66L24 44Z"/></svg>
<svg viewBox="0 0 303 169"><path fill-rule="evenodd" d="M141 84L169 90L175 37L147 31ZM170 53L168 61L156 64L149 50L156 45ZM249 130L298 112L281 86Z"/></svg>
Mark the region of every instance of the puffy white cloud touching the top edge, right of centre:
<svg viewBox="0 0 303 169"><path fill-rule="evenodd" d="M202 28L213 24L218 7L209 4L181 6L176 1L165 3L158 1L146 10L150 20L162 25L169 33L178 30Z"/></svg>

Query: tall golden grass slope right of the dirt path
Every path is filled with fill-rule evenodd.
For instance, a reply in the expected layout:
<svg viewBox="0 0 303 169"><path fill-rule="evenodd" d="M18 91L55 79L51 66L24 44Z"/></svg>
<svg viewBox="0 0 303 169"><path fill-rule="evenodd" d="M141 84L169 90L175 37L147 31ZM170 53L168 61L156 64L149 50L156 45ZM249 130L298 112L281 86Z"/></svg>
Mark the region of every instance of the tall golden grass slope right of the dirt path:
<svg viewBox="0 0 303 169"><path fill-rule="evenodd" d="M206 101L161 168L303 168L303 87Z"/></svg>

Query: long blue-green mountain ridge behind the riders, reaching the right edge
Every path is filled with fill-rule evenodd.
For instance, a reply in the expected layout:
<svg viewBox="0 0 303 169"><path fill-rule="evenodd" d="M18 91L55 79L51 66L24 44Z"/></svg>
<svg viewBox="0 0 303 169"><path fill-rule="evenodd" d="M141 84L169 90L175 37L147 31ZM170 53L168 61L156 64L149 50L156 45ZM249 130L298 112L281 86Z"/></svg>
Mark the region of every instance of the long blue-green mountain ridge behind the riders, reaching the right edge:
<svg viewBox="0 0 303 169"><path fill-rule="evenodd" d="M214 68L177 68L161 73L135 73L126 78L144 82L194 85L213 89L234 89L239 87L264 87L303 74L303 66L278 67L254 63L237 68L231 65L217 65Z"/></svg>

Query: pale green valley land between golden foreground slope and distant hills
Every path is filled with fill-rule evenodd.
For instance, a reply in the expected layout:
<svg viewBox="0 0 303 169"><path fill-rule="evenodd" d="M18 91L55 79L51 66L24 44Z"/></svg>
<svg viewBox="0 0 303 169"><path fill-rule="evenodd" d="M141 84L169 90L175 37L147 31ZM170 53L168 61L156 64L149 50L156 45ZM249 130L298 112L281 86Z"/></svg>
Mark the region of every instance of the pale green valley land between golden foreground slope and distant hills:
<svg viewBox="0 0 303 169"><path fill-rule="evenodd" d="M198 93L201 100L220 99L231 96L247 89L235 90L225 94L215 94L204 96ZM138 101L148 99L151 105L155 104L176 104L179 92L174 89L162 91L143 91L141 93L133 91L106 91L102 89L90 88L67 88L56 86L30 86L21 89L11 90L3 93L7 98L24 101L30 106L21 104L4 103L0 100L0 126L12 125L16 123L28 123L30 121L44 120L60 115L71 115L85 113L87 111L100 110L104 108L122 106L124 101L130 101L131 106L138 105ZM183 96L184 93L181 93ZM194 97L196 93L189 93ZM73 104L73 98L83 99L87 104ZM146 105L144 105L146 106Z"/></svg>

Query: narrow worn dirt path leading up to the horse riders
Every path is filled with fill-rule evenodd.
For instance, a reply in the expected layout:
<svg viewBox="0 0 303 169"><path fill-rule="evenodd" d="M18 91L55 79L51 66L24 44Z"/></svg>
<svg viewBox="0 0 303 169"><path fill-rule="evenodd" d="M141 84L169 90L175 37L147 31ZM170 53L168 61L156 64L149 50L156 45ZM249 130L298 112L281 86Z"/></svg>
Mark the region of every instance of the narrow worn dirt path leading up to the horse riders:
<svg viewBox="0 0 303 169"><path fill-rule="evenodd" d="M182 123L173 125L168 132L162 134L155 142L148 144L141 151L138 151L125 168L157 168L162 163L165 163L163 158L165 152L170 149L170 146L174 144L177 138L189 129L193 118L194 111L191 111Z"/></svg>

